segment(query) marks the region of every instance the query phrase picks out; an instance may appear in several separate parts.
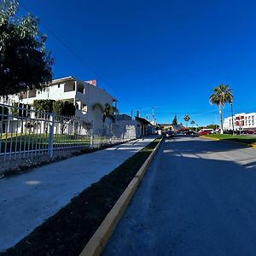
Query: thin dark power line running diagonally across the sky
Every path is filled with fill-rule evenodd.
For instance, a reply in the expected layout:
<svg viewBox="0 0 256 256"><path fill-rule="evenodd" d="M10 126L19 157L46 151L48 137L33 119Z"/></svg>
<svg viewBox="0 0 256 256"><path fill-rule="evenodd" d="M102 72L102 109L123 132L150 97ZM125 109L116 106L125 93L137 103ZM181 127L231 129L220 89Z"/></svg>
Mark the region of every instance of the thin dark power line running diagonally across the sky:
<svg viewBox="0 0 256 256"><path fill-rule="evenodd" d="M19 3L20 6L23 8L23 9L26 9L27 12L29 13L32 13L32 11L30 11L26 5L24 3ZM117 93L119 95L119 92L112 86L112 84L110 83L106 83L105 79L102 79L102 76L96 72L96 70L94 68L92 68L87 62L85 62L69 45L67 45L67 43L65 43L59 36L57 36L55 34L55 32L53 32L49 26L46 26L44 24L44 22L42 22L40 20L40 24L42 26L44 26L44 28L60 43L62 44L72 55L74 55L83 65L84 67L87 67L91 73L94 73L96 75L96 77L98 77L99 79L102 80L102 83L103 84L106 84L110 89L112 89L113 91L115 91L115 93ZM120 95L119 95L120 96ZM130 102L128 99L126 99L124 96L120 96L121 98L123 98L123 100L125 100L125 102L128 102L131 106L134 106L134 104L132 102Z"/></svg>

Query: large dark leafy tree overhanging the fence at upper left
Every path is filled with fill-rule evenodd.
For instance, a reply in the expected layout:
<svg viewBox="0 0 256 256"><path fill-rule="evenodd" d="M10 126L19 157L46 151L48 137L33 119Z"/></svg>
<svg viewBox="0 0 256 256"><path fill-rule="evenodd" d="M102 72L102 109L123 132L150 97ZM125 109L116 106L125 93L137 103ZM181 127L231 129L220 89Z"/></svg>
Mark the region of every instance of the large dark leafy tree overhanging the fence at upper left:
<svg viewBox="0 0 256 256"><path fill-rule="evenodd" d="M52 79L53 59L45 48L46 36L38 31L31 14L15 16L18 3L0 3L0 96L44 89Z"/></svg>

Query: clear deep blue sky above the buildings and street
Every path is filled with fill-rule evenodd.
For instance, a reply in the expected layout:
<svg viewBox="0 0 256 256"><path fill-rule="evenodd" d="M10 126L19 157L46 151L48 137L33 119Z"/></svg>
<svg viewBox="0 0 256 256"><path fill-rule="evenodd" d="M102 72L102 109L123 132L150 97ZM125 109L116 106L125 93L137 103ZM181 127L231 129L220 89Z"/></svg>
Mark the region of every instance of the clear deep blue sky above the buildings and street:
<svg viewBox="0 0 256 256"><path fill-rule="evenodd" d="M175 113L178 122L189 114L198 125L216 123L218 108L208 98L218 84L230 84L235 113L256 111L255 1L20 4L20 12L31 10L48 34L54 78L96 79L119 99L122 113L138 109L146 117L154 108L160 123Z"/></svg>

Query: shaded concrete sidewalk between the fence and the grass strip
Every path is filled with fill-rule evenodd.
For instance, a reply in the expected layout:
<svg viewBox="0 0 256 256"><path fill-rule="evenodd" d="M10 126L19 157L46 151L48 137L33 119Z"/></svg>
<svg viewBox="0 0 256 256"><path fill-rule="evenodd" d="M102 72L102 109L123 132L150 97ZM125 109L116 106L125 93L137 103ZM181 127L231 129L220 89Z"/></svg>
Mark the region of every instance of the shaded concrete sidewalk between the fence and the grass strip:
<svg viewBox="0 0 256 256"><path fill-rule="evenodd" d="M152 142L138 139L0 180L0 251L14 246L76 195Z"/></svg>

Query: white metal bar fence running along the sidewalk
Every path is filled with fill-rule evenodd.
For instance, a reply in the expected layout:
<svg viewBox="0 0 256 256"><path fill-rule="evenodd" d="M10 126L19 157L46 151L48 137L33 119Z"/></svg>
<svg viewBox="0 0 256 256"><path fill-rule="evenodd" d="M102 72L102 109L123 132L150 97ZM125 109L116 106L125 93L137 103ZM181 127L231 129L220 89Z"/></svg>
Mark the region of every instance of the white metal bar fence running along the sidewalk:
<svg viewBox="0 0 256 256"><path fill-rule="evenodd" d="M129 127L122 131L123 127L117 124L93 124L77 117L36 111L28 105L0 103L0 162L44 155L52 157L125 142L134 134Z"/></svg>

